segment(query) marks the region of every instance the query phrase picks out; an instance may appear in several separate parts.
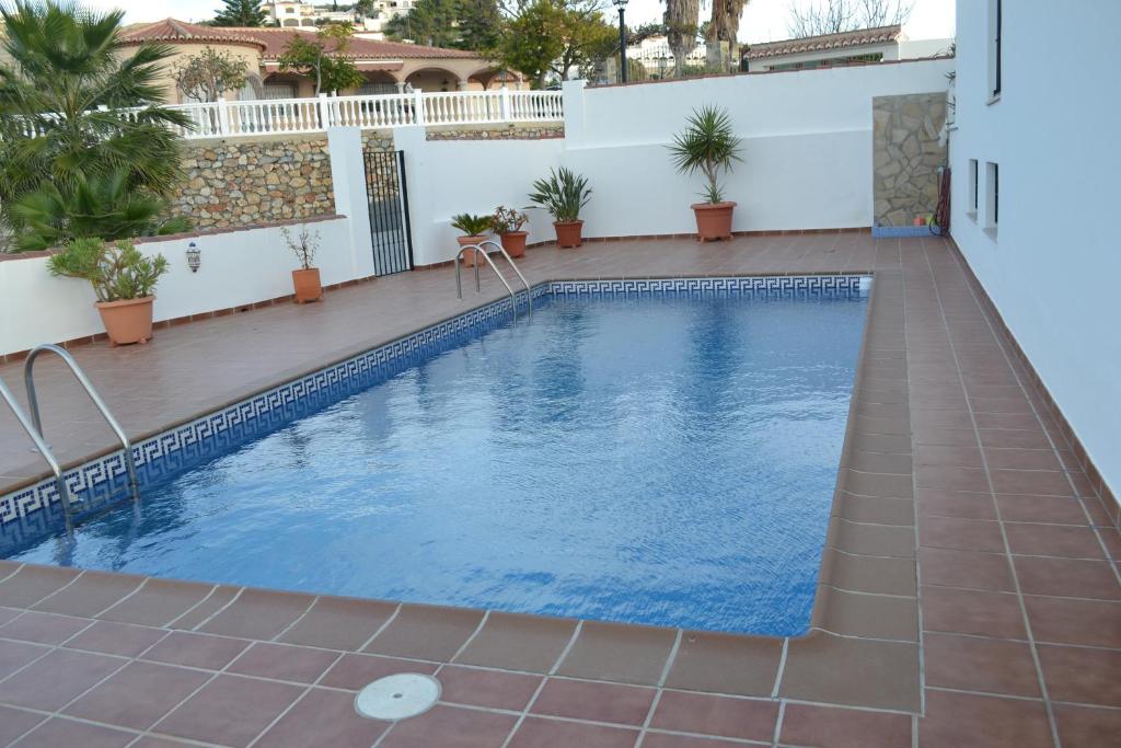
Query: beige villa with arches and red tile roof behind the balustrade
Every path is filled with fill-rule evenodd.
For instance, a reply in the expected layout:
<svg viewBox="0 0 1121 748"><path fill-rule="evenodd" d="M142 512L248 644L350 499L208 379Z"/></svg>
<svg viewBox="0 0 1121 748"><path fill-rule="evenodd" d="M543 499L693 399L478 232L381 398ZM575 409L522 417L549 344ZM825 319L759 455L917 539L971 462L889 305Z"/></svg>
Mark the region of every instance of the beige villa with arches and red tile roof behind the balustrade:
<svg viewBox="0 0 1121 748"><path fill-rule="evenodd" d="M303 99L315 95L315 82L293 71L281 71L279 57L296 35L314 38L315 31L296 28L240 28L197 26L167 18L130 28L122 35L126 44L145 41L172 45L176 58L197 55L205 47L229 52L249 64L250 75L238 99ZM330 44L330 43L328 43ZM328 50L332 47L328 46ZM503 73L474 52L425 47L397 41L354 38L345 52L365 77L361 86L340 94L399 93L419 91L484 91L502 82L520 86L516 73ZM165 81L167 100L184 102L170 76Z"/></svg>

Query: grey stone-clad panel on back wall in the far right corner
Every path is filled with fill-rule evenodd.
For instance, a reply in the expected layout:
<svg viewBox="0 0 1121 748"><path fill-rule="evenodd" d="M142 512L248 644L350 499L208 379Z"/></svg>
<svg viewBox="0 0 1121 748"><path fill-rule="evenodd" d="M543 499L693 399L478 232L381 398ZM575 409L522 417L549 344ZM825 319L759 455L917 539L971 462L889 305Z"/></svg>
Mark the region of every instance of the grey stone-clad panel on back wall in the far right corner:
<svg viewBox="0 0 1121 748"><path fill-rule="evenodd" d="M938 167L946 147L946 94L916 93L872 99L872 195L876 225L911 225L938 204Z"/></svg>

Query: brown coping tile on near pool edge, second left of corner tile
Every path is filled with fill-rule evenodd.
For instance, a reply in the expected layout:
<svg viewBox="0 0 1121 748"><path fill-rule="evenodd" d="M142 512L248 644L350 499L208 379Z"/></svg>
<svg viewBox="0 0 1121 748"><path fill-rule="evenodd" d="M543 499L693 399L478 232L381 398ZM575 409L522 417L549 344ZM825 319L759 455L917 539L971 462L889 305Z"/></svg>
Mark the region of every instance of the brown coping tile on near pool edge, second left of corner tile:
<svg viewBox="0 0 1121 748"><path fill-rule="evenodd" d="M668 628L585 621L557 674L657 685L675 637Z"/></svg>

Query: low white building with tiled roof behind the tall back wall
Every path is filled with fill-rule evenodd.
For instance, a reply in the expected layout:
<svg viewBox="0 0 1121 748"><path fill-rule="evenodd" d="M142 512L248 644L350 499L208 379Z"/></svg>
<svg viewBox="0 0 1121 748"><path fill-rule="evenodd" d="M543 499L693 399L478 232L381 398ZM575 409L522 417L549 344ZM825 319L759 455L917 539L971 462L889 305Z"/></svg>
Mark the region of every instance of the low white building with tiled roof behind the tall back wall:
<svg viewBox="0 0 1121 748"><path fill-rule="evenodd" d="M752 73L796 71L948 56L953 54L953 39L911 41L901 26L880 26L752 44L743 48L740 70Z"/></svg>

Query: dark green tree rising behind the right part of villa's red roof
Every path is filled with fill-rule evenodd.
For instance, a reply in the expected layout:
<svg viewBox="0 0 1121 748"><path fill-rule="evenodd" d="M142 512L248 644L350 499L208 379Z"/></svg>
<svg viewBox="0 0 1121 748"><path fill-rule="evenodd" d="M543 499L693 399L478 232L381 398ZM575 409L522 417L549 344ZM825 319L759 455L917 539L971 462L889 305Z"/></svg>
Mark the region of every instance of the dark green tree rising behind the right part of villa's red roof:
<svg viewBox="0 0 1121 748"><path fill-rule="evenodd" d="M418 0L386 24L386 34L432 47L488 52L497 46L501 25L495 0Z"/></svg>

